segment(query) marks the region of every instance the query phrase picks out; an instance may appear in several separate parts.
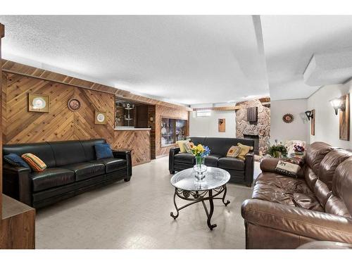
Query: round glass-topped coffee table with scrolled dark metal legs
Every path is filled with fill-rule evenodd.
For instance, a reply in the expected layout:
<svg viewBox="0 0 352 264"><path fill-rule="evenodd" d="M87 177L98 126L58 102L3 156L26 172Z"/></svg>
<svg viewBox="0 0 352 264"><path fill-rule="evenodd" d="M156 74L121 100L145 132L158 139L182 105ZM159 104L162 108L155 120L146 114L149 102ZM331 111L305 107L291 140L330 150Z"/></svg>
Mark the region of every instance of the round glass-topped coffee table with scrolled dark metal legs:
<svg viewBox="0 0 352 264"><path fill-rule="evenodd" d="M178 218L180 210L186 208L187 206L191 206L194 203L201 202L203 203L203 207L208 218L208 227L210 230L213 230L213 228L216 227L216 224L212 225L210 222L214 212L213 200L220 199L225 206L230 203L229 200L225 201L227 192L226 184L230 180L230 173L220 168L208 167L206 177L203 180L197 180L195 174L196 172L193 168L189 168L187 170L177 172L172 176L170 182L172 186L175 187L174 204L177 214L174 215L174 213L171 212L170 215L172 218L176 219ZM222 197L218 197L220 194L222 194ZM179 208L176 204L176 196L180 199L191 202ZM205 201L209 201L209 211L206 207Z"/></svg>

